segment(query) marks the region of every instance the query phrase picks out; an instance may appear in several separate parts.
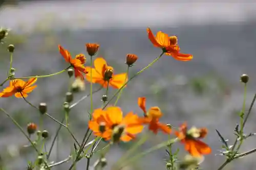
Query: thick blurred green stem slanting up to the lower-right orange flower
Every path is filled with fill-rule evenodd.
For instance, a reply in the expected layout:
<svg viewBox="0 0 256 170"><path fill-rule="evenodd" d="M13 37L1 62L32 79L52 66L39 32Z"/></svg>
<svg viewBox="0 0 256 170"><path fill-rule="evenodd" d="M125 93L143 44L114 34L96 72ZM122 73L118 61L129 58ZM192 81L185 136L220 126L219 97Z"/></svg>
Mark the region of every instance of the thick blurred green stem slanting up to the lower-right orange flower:
<svg viewBox="0 0 256 170"><path fill-rule="evenodd" d="M117 169L118 169L118 170L119 170L119 169L122 169L122 168L125 167L127 164L130 164L130 163L132 163L133 161L138 160L139 158L141 158L141 157L143 157L143 156L145 156L145 155L147 155L147 154L149 154L149 153L151 153L151 152L153 152L153 151L156 151L156 150L159 150L159 149L161 149L161 148L164 148L164 147L166 147L166 145L169 144L169 143L175 143L175 142L177 142L178 140L179 140L178 138L175 138L175 139L172 139L172 140L168 140L168 141L159 143L159 144L155 145L154 147L152 147L152 148L150 148L150 149L147 149L147 150L145 150L144 152L141 152L141 153L135 155L134 157L132 157L132 158L130 158L130 159L126 159L126 161L123 161L123 163L122 163L120 166L117 166L117 167L118 167Z"/></svg>

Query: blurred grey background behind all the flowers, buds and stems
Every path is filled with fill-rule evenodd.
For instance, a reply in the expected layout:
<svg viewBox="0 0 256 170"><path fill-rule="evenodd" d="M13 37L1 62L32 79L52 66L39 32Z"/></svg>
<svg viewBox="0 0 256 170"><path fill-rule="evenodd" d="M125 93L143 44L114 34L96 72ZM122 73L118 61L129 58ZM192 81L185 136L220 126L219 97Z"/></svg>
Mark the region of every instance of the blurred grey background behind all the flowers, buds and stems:
<svg viewBox="0 0 256 170"><path fill-rule="evenodd" d="M13 67L15 76L45 75L67 67L67 63L58 52L58 44L67 48L75 56L85 53L85 43L100 44L98 56L104 57L115 72L125 72L127 53L138 55L139 59L130 69L130 74L153 61L161 50L153 47L147 39L146 28L154 33L163 31L177 35L181 52L194 55L189 62L176 61L163 56L150 69L134 79L123 91L118 106L125 113L135 111L142 114L137 106L139 96L147 97L147 107L159 106L164 116L162 121L178 127L184 121L188 126L207 127L209 134L205 138L212 148L212 154L205 156L203 169L217 169L225 160L220 156L221 143L215 131L233 144L233 130L239 122L238 113L242 109L242 74L250 77L247 87L246 108L252 101L255 84L256 62L256 3L253 1L6 1L0 7L0 27L11 29L0 46L0 80L6 78L9 69L9 53L6 47L15 45ZM89 61L89 60L88 60ZM7 86L8 83L5 84ZM49 114L57 119L63 117L62 104L69 88L67 73L42 78L38 87L27 98L34 105L40 102L48 104ZM75 94L79 100L90 90ZM4 87L1 87L1 90ZM94 89L98 88L97 85ZM110 90L110 93L114 93ZM101 107L100 91L94 95L94 106ZM110 95L111 96L111 95ZM24 100L1 98L0 106L6 109L17 122L24 127L30 122L39 123L39 113ZM86 99L70 113L71 129L81 141L87 128L90 99ZM245 133L255 132L255 110L245 127ZM44 118L44 129L50 133L48 149L56 128L55 122ZM5 169L26 169L28 161L34 161L33 150L24 149L26 138L4 114L0 114L0 155ZM72 140L68 132L62 129L58 144L51 155L52 161L65 159L70 154ZM34 136L32 136L34 137ZM154 135L142 145L142 150L167 139ZM255 137L248 138L241 152L256 147ZM100 147L103 147L102 143ZM111 148L106 156L108 167L126 150L129 144L120 144ZM179 158L185 152L183 145ZM255 154L235 160L226 169L255 169ZM128 169L165 169L164 149L154 152L127 167ZM93 159L93 162L97 159ZM72 162L53 169L68 169ZM84 169L86 159L77 164Z"/></svg>

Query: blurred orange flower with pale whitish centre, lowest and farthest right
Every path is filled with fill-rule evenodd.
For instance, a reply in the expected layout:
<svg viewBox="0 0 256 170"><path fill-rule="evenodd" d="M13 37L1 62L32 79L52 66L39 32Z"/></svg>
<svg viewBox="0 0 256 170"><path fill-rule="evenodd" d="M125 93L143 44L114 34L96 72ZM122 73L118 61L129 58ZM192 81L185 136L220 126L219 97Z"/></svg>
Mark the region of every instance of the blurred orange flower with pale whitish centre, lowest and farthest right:
<svg viewBox="0 0 256 170"><path fill-rule="evenodd" d="M206 128L197 129L192 127L187 131L187 124L183 123L180 126L180 131L175 132L176 136L185 144L185 150L188 151L192 156L201 157L202 155L210 154L210 147L200 141L200 138L204 138L207 134Z"/></svg>

